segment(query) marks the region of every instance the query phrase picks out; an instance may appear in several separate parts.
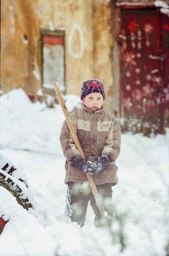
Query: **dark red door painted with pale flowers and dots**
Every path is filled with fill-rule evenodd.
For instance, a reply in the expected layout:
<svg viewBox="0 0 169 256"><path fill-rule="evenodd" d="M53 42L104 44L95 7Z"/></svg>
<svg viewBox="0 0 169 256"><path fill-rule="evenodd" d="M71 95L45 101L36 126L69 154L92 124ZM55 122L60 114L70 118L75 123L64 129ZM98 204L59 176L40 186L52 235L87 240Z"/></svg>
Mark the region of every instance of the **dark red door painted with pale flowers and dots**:
<svg viewBox="0 0 169 256"><path fill-rule="evenodd" d="M169 18L158 9L121 10L122 130L163 133L168 39Z"/></svg>

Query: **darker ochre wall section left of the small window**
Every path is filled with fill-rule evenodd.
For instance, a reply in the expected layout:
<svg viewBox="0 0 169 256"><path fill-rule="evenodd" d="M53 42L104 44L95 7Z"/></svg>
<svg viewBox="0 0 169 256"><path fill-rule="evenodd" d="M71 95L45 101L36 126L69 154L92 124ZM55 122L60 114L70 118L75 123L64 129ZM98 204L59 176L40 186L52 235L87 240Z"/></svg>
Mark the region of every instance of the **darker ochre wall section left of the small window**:
<svg viewBox="0 0 169 256"><path fill-rule="evenodd" d="M1 1L1 90L40 87L39 26L33 0ZM36 76L35 76L36 74ZM37 79L38 78L38 79Z"/></svg>

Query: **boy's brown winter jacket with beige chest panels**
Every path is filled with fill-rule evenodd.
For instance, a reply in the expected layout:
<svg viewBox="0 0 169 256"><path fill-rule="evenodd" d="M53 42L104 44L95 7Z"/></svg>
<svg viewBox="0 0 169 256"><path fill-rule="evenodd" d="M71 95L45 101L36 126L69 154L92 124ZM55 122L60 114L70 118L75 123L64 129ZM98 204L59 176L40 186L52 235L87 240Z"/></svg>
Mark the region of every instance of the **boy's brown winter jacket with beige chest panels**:
<svg viewBox="0 0 169 256"><path fill-rule="evenodd" d="M121 144L120 124L116 117L102 109L93 112L85 106L83 109L72 112L70 117L85 158L107 154L111 160L106 169L93 175L95 184L112 183L112 186L116 185L117 167L114 162L120 153ZM72 159L80 153L76 149L66 120L62 125L60 143L66 157L65 183L87 181L86 174L72 164Z"/></svg>

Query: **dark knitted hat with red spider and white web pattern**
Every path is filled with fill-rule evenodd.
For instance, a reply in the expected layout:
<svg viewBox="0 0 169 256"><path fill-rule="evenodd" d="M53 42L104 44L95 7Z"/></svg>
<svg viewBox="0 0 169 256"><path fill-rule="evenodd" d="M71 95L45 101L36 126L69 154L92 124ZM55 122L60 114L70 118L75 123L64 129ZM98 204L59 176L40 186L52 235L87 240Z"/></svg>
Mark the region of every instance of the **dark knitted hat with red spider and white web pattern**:
<svg viewBox="0 0 169 256"><path fill-rule="evenodd" d="M83 82L83 86L81 87L81 99L83 99L86 95L92 92L99 92L102 94L103 99L105 99L104 94L104 86L101 81L97 79L90 79Z"/></svg>

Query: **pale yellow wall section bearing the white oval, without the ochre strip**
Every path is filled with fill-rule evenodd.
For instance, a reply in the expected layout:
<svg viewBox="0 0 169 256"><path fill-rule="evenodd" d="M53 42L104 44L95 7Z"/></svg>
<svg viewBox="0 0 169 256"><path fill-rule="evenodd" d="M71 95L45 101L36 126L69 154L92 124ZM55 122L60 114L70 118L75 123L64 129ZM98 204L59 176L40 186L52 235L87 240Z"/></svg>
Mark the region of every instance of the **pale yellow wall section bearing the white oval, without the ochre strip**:
<svg viewBox="0 0 169 256"><path fill-rule="evenodd" d="M81 84L93 76L91 1L39 0L41 29L65 29L66 93L80 94ZM50 3L50 4L49 4ZM50 25L49 25L50 24Z"/></svg>

